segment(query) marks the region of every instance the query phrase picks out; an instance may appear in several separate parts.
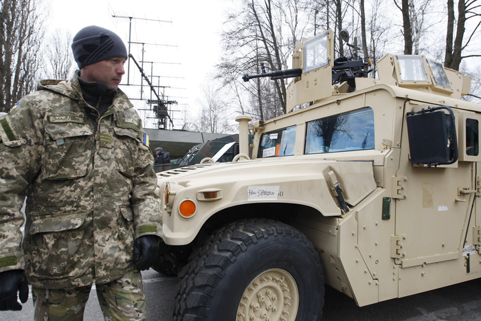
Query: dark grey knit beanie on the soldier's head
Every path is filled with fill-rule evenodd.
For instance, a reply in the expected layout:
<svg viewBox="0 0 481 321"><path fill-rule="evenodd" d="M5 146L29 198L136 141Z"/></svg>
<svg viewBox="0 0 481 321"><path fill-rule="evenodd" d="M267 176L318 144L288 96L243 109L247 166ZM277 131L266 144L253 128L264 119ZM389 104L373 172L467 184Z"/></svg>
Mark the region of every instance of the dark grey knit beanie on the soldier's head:
<svg viewBox="0 0 481 321"><path fill-rule="evenodd" d="M120 36L96 25L89 25L74 36L72 52L79 69L109 58L128 58Z"/></svg>

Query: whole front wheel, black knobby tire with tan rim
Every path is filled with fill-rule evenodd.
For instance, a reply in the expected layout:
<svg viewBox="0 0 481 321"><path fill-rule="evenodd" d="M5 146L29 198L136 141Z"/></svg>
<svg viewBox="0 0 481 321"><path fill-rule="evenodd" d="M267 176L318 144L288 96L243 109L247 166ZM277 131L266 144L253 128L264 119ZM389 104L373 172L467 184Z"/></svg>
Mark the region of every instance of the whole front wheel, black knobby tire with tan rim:
<svg viewBox="0 0 481 321"><path fill-rule="evenodd" d="M317 321L324 276L312 243L266 219L225 225L181 270L175 320Z"/></svg>

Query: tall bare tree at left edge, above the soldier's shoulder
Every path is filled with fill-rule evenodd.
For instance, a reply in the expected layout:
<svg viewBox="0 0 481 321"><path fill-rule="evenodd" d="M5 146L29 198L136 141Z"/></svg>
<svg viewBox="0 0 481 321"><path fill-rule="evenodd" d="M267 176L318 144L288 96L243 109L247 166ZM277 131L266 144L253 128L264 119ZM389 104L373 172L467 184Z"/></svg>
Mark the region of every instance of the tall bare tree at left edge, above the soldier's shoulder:
<svg viewBox="0 0 481 321"><path fill-rule="evenodd" d="M0 111L34 91L43 38L41 0L3 0L0 11Z"/></svg>

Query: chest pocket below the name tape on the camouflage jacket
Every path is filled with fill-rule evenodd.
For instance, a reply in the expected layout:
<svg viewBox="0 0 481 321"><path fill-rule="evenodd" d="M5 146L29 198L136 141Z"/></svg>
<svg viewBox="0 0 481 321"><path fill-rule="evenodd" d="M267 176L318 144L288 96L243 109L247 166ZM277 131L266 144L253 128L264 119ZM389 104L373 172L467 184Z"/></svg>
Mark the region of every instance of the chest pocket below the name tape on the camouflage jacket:
<svg viewBox="0 0 481 321"><path fill-rule="evenodd" d="M78 116L49 116L43 166L48 179L74 179L91 170L93 128Z"/></svg>

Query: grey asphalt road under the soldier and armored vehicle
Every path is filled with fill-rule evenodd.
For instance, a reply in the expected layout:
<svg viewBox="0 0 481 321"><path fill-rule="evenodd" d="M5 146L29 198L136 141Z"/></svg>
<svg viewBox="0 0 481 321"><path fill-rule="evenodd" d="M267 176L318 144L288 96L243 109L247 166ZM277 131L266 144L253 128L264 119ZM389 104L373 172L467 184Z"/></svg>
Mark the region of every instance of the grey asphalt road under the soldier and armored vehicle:
<svg viewBox="0 0 481 321"><path fill-rule="evenodd" d="M175 277L157 274L152 269L142 272L147 296L148 316L153 321L171 321L174 298L179 281ZM399 321L473 321L481 320L481 280L473 280L443 289L357 307L354 300L328 288L322 320L399 320ZM0 320L33 320L32 298L23 305L22 311L0 312ZM85 311L87 321L101 321L96 291L91 291Z"/></svg>

